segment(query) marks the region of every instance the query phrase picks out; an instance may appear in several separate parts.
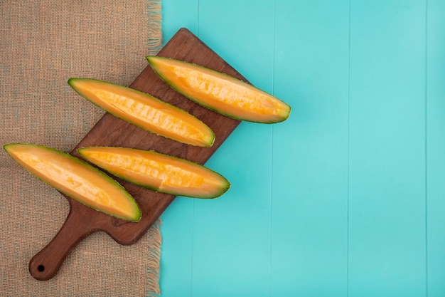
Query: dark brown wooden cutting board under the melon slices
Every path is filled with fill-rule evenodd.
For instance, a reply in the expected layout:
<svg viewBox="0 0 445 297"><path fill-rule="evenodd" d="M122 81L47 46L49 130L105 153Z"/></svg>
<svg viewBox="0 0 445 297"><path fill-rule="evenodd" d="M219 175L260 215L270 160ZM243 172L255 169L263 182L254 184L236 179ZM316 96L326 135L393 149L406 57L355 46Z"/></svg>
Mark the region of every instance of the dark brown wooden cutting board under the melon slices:
<svg viewBox="0 0 445 297"><path fill-rule="evenodd" d="M181 28L163 47L158 56L188 61L245 80L240 73L237 73L234 68L223 61L220 56L186 28ZM180 142L146 132L139 127L114 117L114 115L106 113L75 147L71 155L80 157L76 152L79 147L134 147L143 150L156 150L157 152L204 164L240 123L238 120L227 118L224 115L219 115L203 108L178 94L166 83L163 83L151 67L148 66L148 63L147 67L139 74L130 87L150 93L156 98L176 105L195 115L195 117L202 120L215 132L216 137L213 146L194 147L184 145ZM142 211L141 221L134 223L116 219L107 214L102 214L102 212L97 212L90 207L85 207L83 204L65 196L70 204L70 212L58 234L31 259L29 271L34 278L44 281L55 276L55 273L57 273L60 265L73 247L94 231L107 232L119 244L134 244L156 222L156 219L159 218L175 198L170 194L153 192L129 182L124 182L117 177L114 178L138 202ZM221 197L220 199L224 198Z"/></svg>

